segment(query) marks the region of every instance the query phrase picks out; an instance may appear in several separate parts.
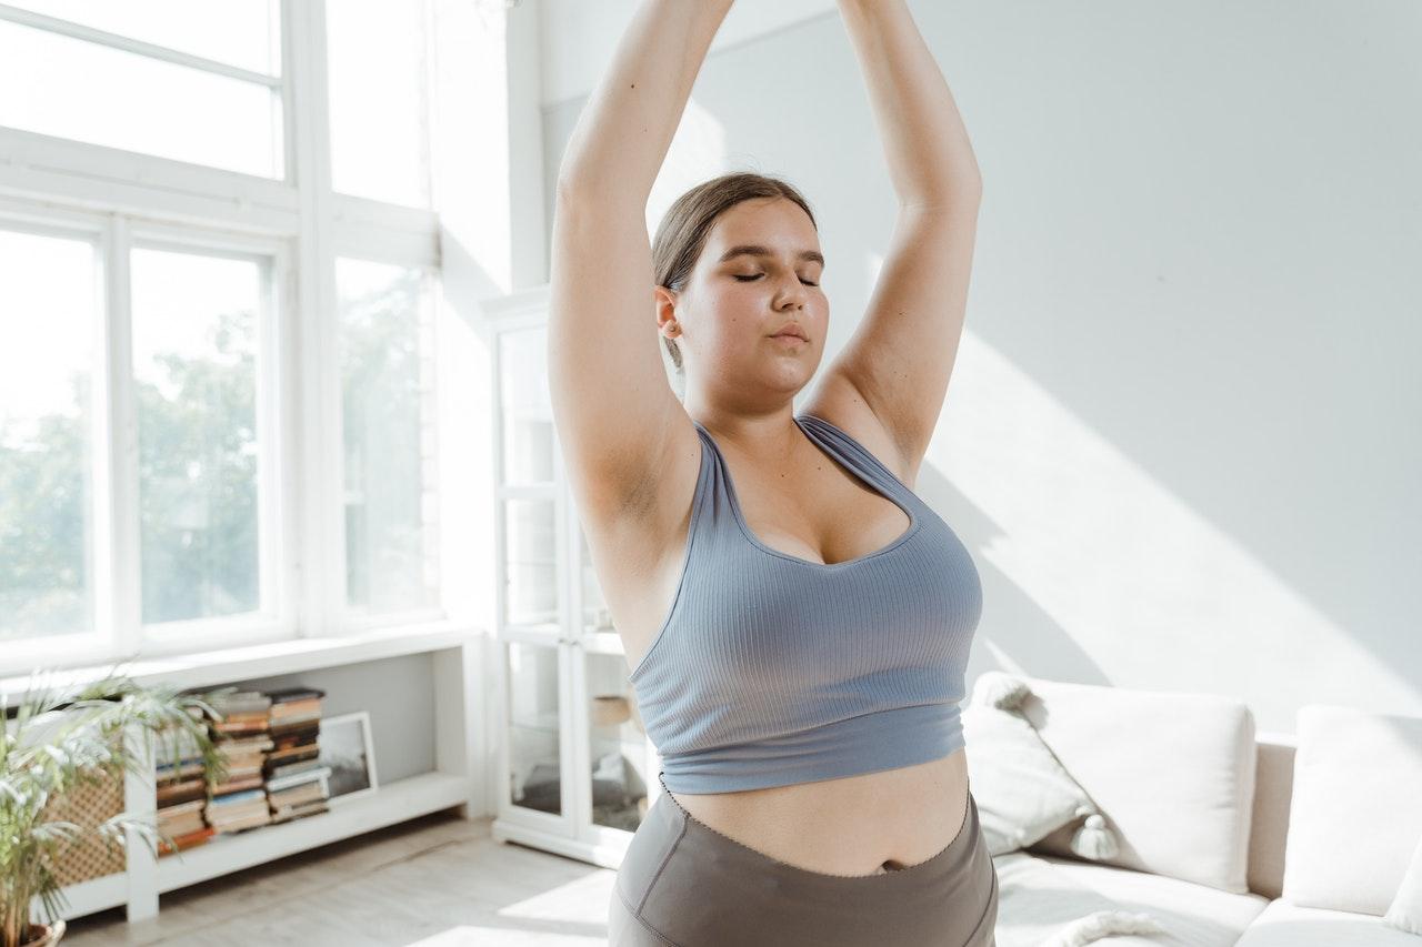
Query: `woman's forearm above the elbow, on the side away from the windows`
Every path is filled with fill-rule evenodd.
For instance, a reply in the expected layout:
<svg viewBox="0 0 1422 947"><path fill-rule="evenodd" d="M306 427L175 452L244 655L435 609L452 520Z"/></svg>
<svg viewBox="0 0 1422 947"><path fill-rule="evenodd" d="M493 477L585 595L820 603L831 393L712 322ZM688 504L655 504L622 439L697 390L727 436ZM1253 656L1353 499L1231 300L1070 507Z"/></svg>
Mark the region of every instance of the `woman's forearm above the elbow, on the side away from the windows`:
<svg viewBox="0 0 1422 947"><path fill-rule="evenodd" d="M839 0L900 205L941 206L981 191L948 84L904 0Z"/></svg>

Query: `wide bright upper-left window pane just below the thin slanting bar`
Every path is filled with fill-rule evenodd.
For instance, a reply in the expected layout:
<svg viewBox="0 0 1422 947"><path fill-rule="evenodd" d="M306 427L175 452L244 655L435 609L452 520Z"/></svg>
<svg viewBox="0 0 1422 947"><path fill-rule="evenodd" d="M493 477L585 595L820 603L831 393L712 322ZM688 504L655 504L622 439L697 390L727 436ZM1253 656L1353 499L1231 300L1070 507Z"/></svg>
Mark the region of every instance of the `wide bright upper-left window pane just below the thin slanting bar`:
<svg viewBox="0 0 1422 947"><path fill-rule="evenodd" d="M0 20L0 125L280 178L266 85Z"/></svg>

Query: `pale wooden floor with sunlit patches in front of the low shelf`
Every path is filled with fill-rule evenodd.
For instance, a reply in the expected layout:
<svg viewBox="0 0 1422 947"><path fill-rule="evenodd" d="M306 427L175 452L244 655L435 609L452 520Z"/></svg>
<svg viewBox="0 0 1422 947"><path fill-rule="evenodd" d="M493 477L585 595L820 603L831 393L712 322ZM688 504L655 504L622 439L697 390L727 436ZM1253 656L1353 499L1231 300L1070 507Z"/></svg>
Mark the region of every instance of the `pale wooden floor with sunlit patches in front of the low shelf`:
<svg viewBox="0 0 1422 947"><path fill-rule="evenodd" d="M452 812L77 917L61 947L606 947L616 873L489 839ZM260 830L260 829L259 829Z"/></svg>

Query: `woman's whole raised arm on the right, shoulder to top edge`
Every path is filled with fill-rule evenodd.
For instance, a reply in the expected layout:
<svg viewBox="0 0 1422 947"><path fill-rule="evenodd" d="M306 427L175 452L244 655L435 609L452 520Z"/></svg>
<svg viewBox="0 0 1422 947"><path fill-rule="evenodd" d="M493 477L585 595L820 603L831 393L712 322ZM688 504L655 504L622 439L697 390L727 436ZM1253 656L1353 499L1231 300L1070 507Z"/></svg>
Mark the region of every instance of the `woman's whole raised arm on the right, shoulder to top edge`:
<svg viewBox="0 0 1422 947"><path fill-rule="evenodd" d="M912 483L937 427L967 309L981 178L904 0L839 0L883 139L899 218L867 311L816 407L879 428Z"/></svg>

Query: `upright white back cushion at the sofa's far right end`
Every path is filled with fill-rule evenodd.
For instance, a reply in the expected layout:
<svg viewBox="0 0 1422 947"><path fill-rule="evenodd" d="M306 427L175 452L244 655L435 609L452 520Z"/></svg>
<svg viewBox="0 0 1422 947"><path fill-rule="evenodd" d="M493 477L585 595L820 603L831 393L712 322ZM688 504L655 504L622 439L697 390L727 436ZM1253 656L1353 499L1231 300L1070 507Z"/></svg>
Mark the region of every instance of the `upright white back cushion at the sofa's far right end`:
<svg viewBox="0 0 1422 947"><path fill-rule="evenodd" d="M1305 704L1297 719L1283 897L1382 917L1422 838L1422 717Z"/></svg>

